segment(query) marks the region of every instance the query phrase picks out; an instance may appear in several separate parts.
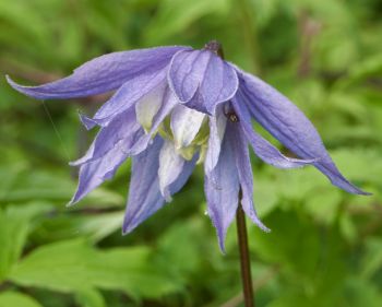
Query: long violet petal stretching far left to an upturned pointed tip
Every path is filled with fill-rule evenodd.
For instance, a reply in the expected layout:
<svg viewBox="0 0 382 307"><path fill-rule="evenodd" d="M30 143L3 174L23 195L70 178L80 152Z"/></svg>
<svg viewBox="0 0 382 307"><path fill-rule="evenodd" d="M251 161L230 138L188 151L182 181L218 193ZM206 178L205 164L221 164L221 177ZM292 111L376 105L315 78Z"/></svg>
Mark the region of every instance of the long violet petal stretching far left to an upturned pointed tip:
<svg viewBox="0 0 382 307"><path fill-rule="evenodd" d="M188 47L158 47L120 51L85 62L73 74L39 86L23 86L7 76L16 91L37 99L65 99L86 97L120 87L142 73L153 73L165 68L172 56Z"/></svg>

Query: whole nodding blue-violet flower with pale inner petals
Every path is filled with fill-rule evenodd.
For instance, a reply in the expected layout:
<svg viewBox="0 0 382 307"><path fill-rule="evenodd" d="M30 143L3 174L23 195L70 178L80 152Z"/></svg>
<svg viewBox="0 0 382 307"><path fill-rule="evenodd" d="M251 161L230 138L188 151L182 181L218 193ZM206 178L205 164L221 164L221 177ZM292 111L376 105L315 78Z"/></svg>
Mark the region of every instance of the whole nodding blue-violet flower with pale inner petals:
<svg viewBox="0 0 382 307"><path fill-rule="evenodd" d="M201 50L175 46L115 52L44 85L22 86L9 78L8 82L37 99L116 91L93 118L81 116L87 129L100 129L86 154L71 163L80 167L80 180L70 203L110 179L132 157L124 234L169 202L199 163L204 163L207 212L222 250L238 205L267 231L253 206L248 145L267 164L311 164L343 190L367 194L339 173L313 125L294 104L222 59L219 50L213 40ZM263 139L252 119L299 158L283 155Z"/></svg>

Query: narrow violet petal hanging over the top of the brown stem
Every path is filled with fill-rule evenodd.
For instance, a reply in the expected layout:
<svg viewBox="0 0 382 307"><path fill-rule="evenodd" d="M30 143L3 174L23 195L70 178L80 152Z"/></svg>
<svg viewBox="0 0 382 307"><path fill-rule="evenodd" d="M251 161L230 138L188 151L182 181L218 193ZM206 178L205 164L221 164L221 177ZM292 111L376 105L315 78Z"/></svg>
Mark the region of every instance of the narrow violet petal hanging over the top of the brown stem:
<svg viewBox="0 0 382 307"><path fill-rule="evenodd" d="M249 157L248 141L239 123L228 123L228 138L234 144L236 166L238 169L239 181L241 187L241 206L246 214L264 232L270 229L260 221L253 205L253 175Z"/></svg>

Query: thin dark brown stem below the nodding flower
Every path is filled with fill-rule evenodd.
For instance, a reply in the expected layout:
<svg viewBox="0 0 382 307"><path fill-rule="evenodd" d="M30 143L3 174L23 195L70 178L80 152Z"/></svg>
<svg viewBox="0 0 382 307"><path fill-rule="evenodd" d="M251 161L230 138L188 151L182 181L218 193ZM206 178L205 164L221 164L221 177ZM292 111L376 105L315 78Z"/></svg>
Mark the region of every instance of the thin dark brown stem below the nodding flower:
<svg viewBox="0 0 382 307"><path fill-rule="evenodd" d="M236 212L236 223L237 223L237 233L238 233L241 281L242 281L242 291L243 291L243 296L244 296L244 306L246 307L254 307L252 275L251 275L251 261L249 258L246 216L244 216L244 212L242 211L242 208L240 205L238 206L238 210Z"/></svg>

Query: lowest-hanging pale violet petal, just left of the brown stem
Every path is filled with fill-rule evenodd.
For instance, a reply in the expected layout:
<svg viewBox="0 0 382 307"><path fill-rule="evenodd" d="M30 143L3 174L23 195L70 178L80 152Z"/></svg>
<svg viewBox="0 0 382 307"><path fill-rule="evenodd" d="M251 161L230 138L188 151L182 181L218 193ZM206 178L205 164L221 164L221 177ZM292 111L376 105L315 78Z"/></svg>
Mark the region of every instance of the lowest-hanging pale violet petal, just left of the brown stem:
<svg viewBox="0 0 382 307"><path fill-rule="evenodd" d="M208 215L217 231L223 252L228 226L232 223L238 208L239 178L230 139L225 134L220 155L214 169L205 176L204 189Z"/></svg>

